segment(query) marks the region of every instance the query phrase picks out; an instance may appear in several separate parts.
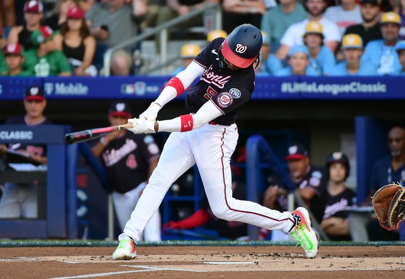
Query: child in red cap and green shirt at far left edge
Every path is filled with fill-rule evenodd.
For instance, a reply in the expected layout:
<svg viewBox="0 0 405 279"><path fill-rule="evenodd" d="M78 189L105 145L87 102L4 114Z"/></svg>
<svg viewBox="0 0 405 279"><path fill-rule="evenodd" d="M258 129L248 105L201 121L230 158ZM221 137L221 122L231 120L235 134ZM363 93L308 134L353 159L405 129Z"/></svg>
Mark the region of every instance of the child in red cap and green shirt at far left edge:
<svg viewBox="0 0 405 279"><path fill-rule="evenodd" d="M6 59L5 69L2 68L2 75L27 76L29 73L22 70L24 63L23 49L20 44L8 44L4 49Z"/></svg>

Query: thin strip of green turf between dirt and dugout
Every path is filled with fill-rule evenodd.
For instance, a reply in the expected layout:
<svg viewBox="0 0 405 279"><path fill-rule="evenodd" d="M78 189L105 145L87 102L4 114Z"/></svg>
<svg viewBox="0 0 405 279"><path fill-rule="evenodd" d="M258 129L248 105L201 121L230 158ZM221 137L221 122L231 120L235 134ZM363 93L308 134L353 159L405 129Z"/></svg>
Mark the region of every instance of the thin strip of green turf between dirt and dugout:
<svg viewBox="0 0 405 279"><path fill-rule="evenodd" d="M137 246L296 246L296 242L271 241L161 241L139 242ZM115 247L117 241L102 240L0 240L0 247ZM321 241L320 246L405 246L405 242L331 242Z"/></svg>

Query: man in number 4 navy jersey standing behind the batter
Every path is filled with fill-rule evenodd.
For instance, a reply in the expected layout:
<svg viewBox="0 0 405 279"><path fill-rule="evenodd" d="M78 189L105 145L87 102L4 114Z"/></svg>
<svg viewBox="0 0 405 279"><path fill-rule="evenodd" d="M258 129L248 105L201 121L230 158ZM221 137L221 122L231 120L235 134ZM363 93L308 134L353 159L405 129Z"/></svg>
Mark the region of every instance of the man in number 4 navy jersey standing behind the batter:
<svg viewBox="0 0 405 279"><path fill-rule="evenodd" d="M132 117L125 102L113 102L108 111L111 126L127 124ZM113 189L112 201L121 229L131 217L150 175L159 161L159 148L151 135L135 135L127 130L109 133L92 147L100 157ZM160 241L160 214L151 215L143 233L145 241Z"/></svg>

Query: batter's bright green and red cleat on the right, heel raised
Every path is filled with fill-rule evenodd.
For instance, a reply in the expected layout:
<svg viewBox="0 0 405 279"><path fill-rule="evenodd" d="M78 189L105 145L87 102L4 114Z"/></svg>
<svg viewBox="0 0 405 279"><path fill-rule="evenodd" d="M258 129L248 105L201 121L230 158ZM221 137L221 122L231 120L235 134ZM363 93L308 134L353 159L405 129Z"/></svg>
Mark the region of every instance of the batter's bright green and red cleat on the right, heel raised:
<svg viewBox="0 0 405 279"><path fill-rule="evenodd" d="M311 227L308 211L303 207L299 207L292 214L299 221L292 233L293 237L301 244L308 258L315 258L316 254L318 254L318 235Z"/></svg>

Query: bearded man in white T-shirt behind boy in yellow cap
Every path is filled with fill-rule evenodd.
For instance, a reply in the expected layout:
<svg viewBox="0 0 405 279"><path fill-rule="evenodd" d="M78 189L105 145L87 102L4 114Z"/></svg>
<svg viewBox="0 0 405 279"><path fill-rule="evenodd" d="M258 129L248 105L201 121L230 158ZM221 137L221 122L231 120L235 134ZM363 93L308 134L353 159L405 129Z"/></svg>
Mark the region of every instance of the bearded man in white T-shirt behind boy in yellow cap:
<svg viewBox="0 0 405 279"><path fill-rule="evenodd" d="M335 52L339 45L341 35L338 26L323 17L326 8L325 0L306 0L305 7L308 10L308 18L291 25L281 38L281 46L275 53L275 56L280 60L287 57L290 48L304 44L302 34L305 33L305 27L309 21L319 21L322 24L323 35L325 36L323 42L332 52Z"/></svg>

